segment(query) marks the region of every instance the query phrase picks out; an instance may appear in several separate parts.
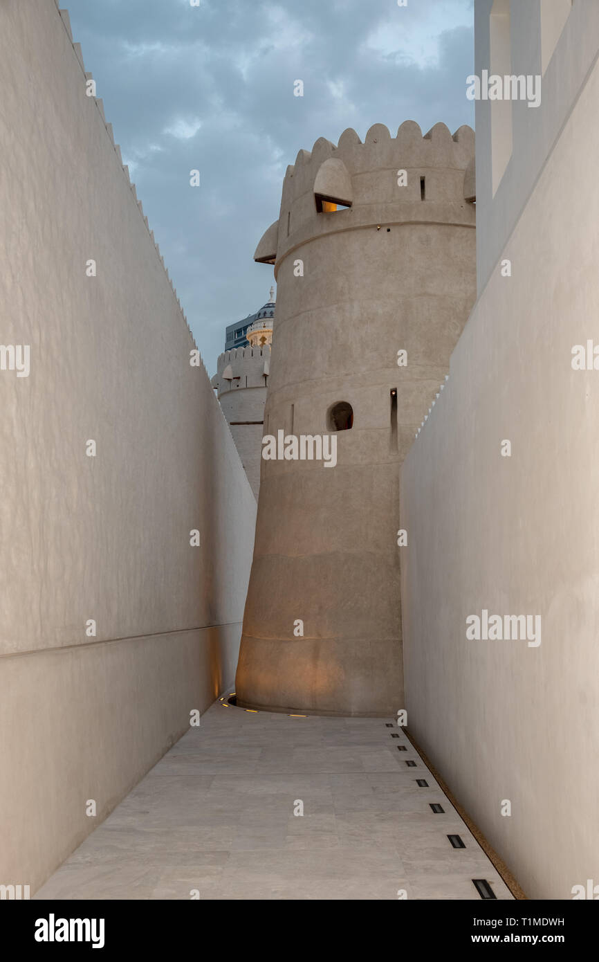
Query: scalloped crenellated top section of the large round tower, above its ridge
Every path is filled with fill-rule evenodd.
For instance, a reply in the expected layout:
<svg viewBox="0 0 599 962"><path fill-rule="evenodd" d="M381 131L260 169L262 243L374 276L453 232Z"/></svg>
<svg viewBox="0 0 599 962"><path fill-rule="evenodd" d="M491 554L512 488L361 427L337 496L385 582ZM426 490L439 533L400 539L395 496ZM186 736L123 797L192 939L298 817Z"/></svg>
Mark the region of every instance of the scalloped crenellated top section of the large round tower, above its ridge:
<svg viewBox="0 0 599 962"><path fill-rule="evenodd" d="M466 125L452 135L437 123L423 135L413 120L394 138L380 123L363 142L352 128L337 146L318 138L287 167L279 219L263 235L255 260L278 264L310 237L378 221L474 226L474 149L474 131Z"/></svg>

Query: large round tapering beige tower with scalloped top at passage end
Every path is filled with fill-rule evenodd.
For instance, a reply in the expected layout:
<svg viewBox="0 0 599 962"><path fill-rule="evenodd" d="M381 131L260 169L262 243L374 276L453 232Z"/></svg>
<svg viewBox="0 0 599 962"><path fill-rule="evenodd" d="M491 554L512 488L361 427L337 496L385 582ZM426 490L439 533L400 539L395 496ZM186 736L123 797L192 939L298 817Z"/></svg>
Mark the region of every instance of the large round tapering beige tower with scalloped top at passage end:
<svg viewBox="0 0 599 962"><path fill-rule="evenodd" d="M264 434L336 433L337 467L262 462L238 704L403 707L399 468L476 296L473 166L469 127L407 121L287 167L255 254L278 281Z"/></svg>

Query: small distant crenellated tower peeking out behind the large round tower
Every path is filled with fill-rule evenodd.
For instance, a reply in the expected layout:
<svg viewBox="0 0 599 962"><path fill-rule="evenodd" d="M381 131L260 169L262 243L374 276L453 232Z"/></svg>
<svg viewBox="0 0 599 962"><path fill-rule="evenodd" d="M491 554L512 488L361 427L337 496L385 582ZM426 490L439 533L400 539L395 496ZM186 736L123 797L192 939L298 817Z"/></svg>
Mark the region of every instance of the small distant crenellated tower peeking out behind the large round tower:
<svg viewBox="0 0 599 962"><path fill-rule="evenodd" d="M262 424L274 313L275 289L271 288L268 300L244 331L249 343L221 354L211 381L256 498L260 490Z"/></svg>

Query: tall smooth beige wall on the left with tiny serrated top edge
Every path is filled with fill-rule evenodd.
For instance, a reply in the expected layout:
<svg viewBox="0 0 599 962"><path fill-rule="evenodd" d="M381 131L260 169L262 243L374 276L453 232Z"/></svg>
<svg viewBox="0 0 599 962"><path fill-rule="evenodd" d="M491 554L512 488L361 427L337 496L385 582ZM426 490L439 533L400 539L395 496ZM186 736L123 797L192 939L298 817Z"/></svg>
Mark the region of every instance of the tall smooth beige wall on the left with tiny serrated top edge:
<svg viewBox="0 0 599 962"><path fill-rule="evenodd" d="M85 84L54 0L0 5L0 883L32 894L232 680L256 511Z"/></svg>

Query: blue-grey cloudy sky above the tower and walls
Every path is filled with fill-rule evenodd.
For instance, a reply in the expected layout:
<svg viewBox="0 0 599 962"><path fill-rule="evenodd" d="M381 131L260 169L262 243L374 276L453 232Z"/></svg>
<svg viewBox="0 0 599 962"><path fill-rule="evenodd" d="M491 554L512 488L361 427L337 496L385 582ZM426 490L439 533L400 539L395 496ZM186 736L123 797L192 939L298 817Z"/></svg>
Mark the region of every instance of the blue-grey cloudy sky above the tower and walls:
<svg viewBox="0 0 599 962"><path fill-rule="evenodd" d="M225 326L267 299L272 267L252 256L300 147L373 123L474 125L474 14L472 0L191 2L62 6L212 373Z"/></svg>

